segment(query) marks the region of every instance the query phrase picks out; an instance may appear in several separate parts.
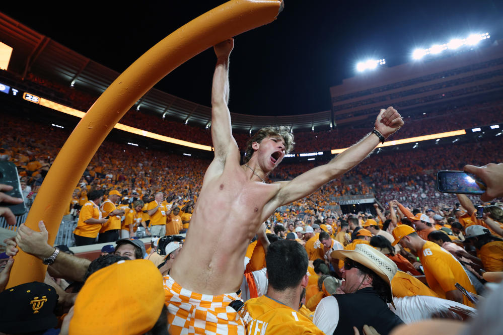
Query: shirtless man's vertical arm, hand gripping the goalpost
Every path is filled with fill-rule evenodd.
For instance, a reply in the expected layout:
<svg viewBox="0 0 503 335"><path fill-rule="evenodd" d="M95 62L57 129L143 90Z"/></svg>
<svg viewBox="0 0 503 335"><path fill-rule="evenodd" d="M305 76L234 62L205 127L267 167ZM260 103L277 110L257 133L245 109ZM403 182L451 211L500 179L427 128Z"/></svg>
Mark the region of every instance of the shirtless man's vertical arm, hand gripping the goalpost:
<svg viewBox="0 0 503 335"><path fill-rule="evenodd" d="M234 145L237 149L236 140L232 137L231 114L227 107L229 103L229 55L233 48L232 38L213 47L218 60L211 88L211 140L215 149L215 158L223 160L229 153L230 145Z"/></svg>

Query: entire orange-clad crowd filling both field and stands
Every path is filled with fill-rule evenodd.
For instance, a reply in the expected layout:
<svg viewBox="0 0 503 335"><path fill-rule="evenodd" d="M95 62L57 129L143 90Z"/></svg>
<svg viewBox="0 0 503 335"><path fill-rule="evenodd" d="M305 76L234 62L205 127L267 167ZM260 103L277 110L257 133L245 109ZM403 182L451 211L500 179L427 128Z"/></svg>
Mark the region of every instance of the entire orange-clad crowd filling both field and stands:
<svg viewBox="0 0 503 335"><path fill-rule="evenodd" d="M455 126L473 122L470 111L481 106L487 110L481 113L482 120L498 119L490 111L495 108L500 114L499 103L470 106L466 118L460 113ZM153 117L129 114L124 122L131 126L151 130L157 122ZM439 122L444 117L411 122L411 128L414 124L418 128L404 136L414 131L420 134L423 125L431 131L453 130L452 125ZM12 115L2 114L2 120L0 159L16 164L24 199L5 198L2 192L9 188L4 185L0 185L0 198L29 204L69 133ZM209 139L204 131L192 134L183 127L173 124L176 130L170 135L179 132L179 138L191 141ZM157 124L159 128L163 127ZM353 136L355 140L365 135L364 128L353 129L345 134L346 142L337 142L338 131L320 136L323 140L319 141L310 138L311 133L301 133L296 142L302 151L320 151L303 145L319 142L323 146L332 138L342 147L350 145ZM237 140L242 143L246 136L238 135ZM500 305L493 297L501 286L487 282L503 279L503 203L497 198L503 196L499 186L503 173L500 165L485 170L471 167L491 192L496 189L482 196L486 202L437 192L435 174L461 170L467 163L500 161L500 144L498 137L450 145L448 150L439 146L375 153L343 180L332 181L269 217L267 238L261 239L259 231L248 245L240 290L213 296L230 299L222 302L192 293L169 276L183 248L183 234L191 229L192 210L210 161L105 141L73 196L61 199L67 204L64 217L77 222L76 244L102 242L101 256L91 261L73 255L68 245L50 245L42 221L38 231L21 224L16 236L4 241L6 252L0 254L0 331L167 334L169 330L181 334L191 328L225 334L244 324L246 332L253 334L354 331L384 335L400 329L407 333L404 323L441 317L470 320L456 326L464 327L465 333L477 333L476 320L488 317L493 304ZM283 163L268 178L293 179L315 165ZM375 204L377 215L336 210L335 197L366 194L382 204ZM479 203L485 206L481 217L475 207ZM147 235L152 236L149 248L141 239ZM45 281L5 289L12 257L19 249L48 265ZM193 315L189 317L182 307L168 313L176 300L172 299L174 291L182 305L193 307L198 301L194 311L190 309ZM488 297L486 301L483 296ZM235 313L227 308L212 310L213 303L227 304ZM197 323L201 320L202 325ZM495 329L496 333L501 328Z"/></svg>

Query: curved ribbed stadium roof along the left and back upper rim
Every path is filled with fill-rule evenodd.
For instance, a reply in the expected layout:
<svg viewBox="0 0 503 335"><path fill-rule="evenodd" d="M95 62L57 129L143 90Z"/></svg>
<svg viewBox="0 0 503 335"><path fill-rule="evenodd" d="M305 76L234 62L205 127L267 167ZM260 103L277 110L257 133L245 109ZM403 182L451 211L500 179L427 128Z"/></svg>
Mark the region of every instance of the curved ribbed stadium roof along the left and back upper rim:
<svg viewBox="0 0 503 335"><path fill-rule="evenodd" d="M22 23L0 13L0 41L13 48L9 71L21 78L29 72L63 85L101 95L120 73L53 41ZM151 89L136 108L174 121L207 127L211 108ZM253 116L231 113L233 131L250 132L270 125L291 126L293 131L327 130L331 111L292 116Z"/></svg>

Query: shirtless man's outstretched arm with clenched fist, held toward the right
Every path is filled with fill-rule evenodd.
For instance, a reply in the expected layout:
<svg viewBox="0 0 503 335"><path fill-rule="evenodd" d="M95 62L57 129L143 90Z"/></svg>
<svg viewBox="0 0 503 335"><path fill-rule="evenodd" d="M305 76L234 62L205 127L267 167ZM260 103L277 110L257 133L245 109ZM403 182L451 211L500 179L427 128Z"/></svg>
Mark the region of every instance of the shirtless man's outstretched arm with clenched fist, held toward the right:
<svg viewBox="0 0 503 335"><path fill-rule="evenodd" d="M403 126L403 120L393 107L381 109L374 129L387 138ZM380 138L374 133L365 136L358 143L338 154L330 162L311 169L291 182L281 183L281 189L273 200L277 207L303 198L332 179L351 170L364 160L379 144Z"/></svg>

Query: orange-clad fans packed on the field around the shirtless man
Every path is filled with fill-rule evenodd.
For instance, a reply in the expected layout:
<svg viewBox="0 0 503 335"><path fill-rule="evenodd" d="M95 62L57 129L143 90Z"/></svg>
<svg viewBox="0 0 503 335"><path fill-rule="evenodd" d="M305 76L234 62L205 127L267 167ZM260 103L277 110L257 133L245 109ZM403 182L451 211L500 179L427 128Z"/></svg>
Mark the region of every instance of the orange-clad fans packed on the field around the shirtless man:
<svg viewBox="0 0 503 335"><path fill-rule="evenodd" d="M82 190L88 189L86 180ZM91 182L89 201L100 205L103 191L94 185ZM99 193L99 200L93 192ZM114 192L108 192L108 199L115 202L117 209L124 208L119 203L129 204L130 193ZM164 221L168 236L153 237L149 249L135 238L134 232L141 225L154 231L156 215L160 216L163 208L157 208L157 203L166 203L169 212L178 207L189 214L192 203L189 199L165 199L163 194L155 197L147 207L140 205L137 213L133 208L126 213L133 217L139 214L138 221L129 221L132 238L111 240L113 244L103 246L101 256L94 261L74 256L65 245L57 249L49 245L42 222L40 231L21 225L16 238L4 241L7 250L0 254L0 331L166 334L171 324L170 333L183 333L173 326L176 321L166 310L167 288L166 284L163 288L163 281L168 280L170 267L183 247L183 235L172 234L184 231L180 226L168 232L169 221ZM269 244L254 238L246 253L239 293L245 303L233 308L245 321L247 333L260 333L262 329L266 334L278 333L279 329L292 333L349 333L354 326L366 334L387 334L398 326L408 327L403 324L421 320L440 317L473 323L489 317L484 314L489 307L484 312L479 307L489 304L491 296L501 289L490 282L503 279L503 203L486 203L484 215L478 218L468 197L458 195L456 199L459 204L450 208L436 206L430 198L423 199L420 208L392 200L384 208L376 204L376 216L363 212L302 215L293 210L277 211L266 222ZM306 206L306 202L302 199L294 206ZM107 216L112 210L101 206L101 211ZM79 222L84 215L82 209ZM174 217L173 213L168 216ZM187 221L184 227L190 229L190 216ZM4 290L13 266L12 256L19 248L48 262L45 281ZM103 285L118 278L117 286ZM130 287L136 290L131 296L134 300L129 301L124 290ZM294 303L292 296L297 297ZM483 296L488 300L484 302ZM145 300L141 307L138 297ZM14 309L6 304L8 301L16 301ZM491 303L500 304L500 300ZM30 312L23 312L23 304L30 305ZM118 313L118 306L124 304L134 313L128 312L119 323L103 320L102 315ZM374 313L361 313L361 304ZM31 306L40 315L32 316ZM257 319L263 322L257 324ZM468 322L455 325L473 328ZM478 330L471 331L475 334Z"/></svg>

